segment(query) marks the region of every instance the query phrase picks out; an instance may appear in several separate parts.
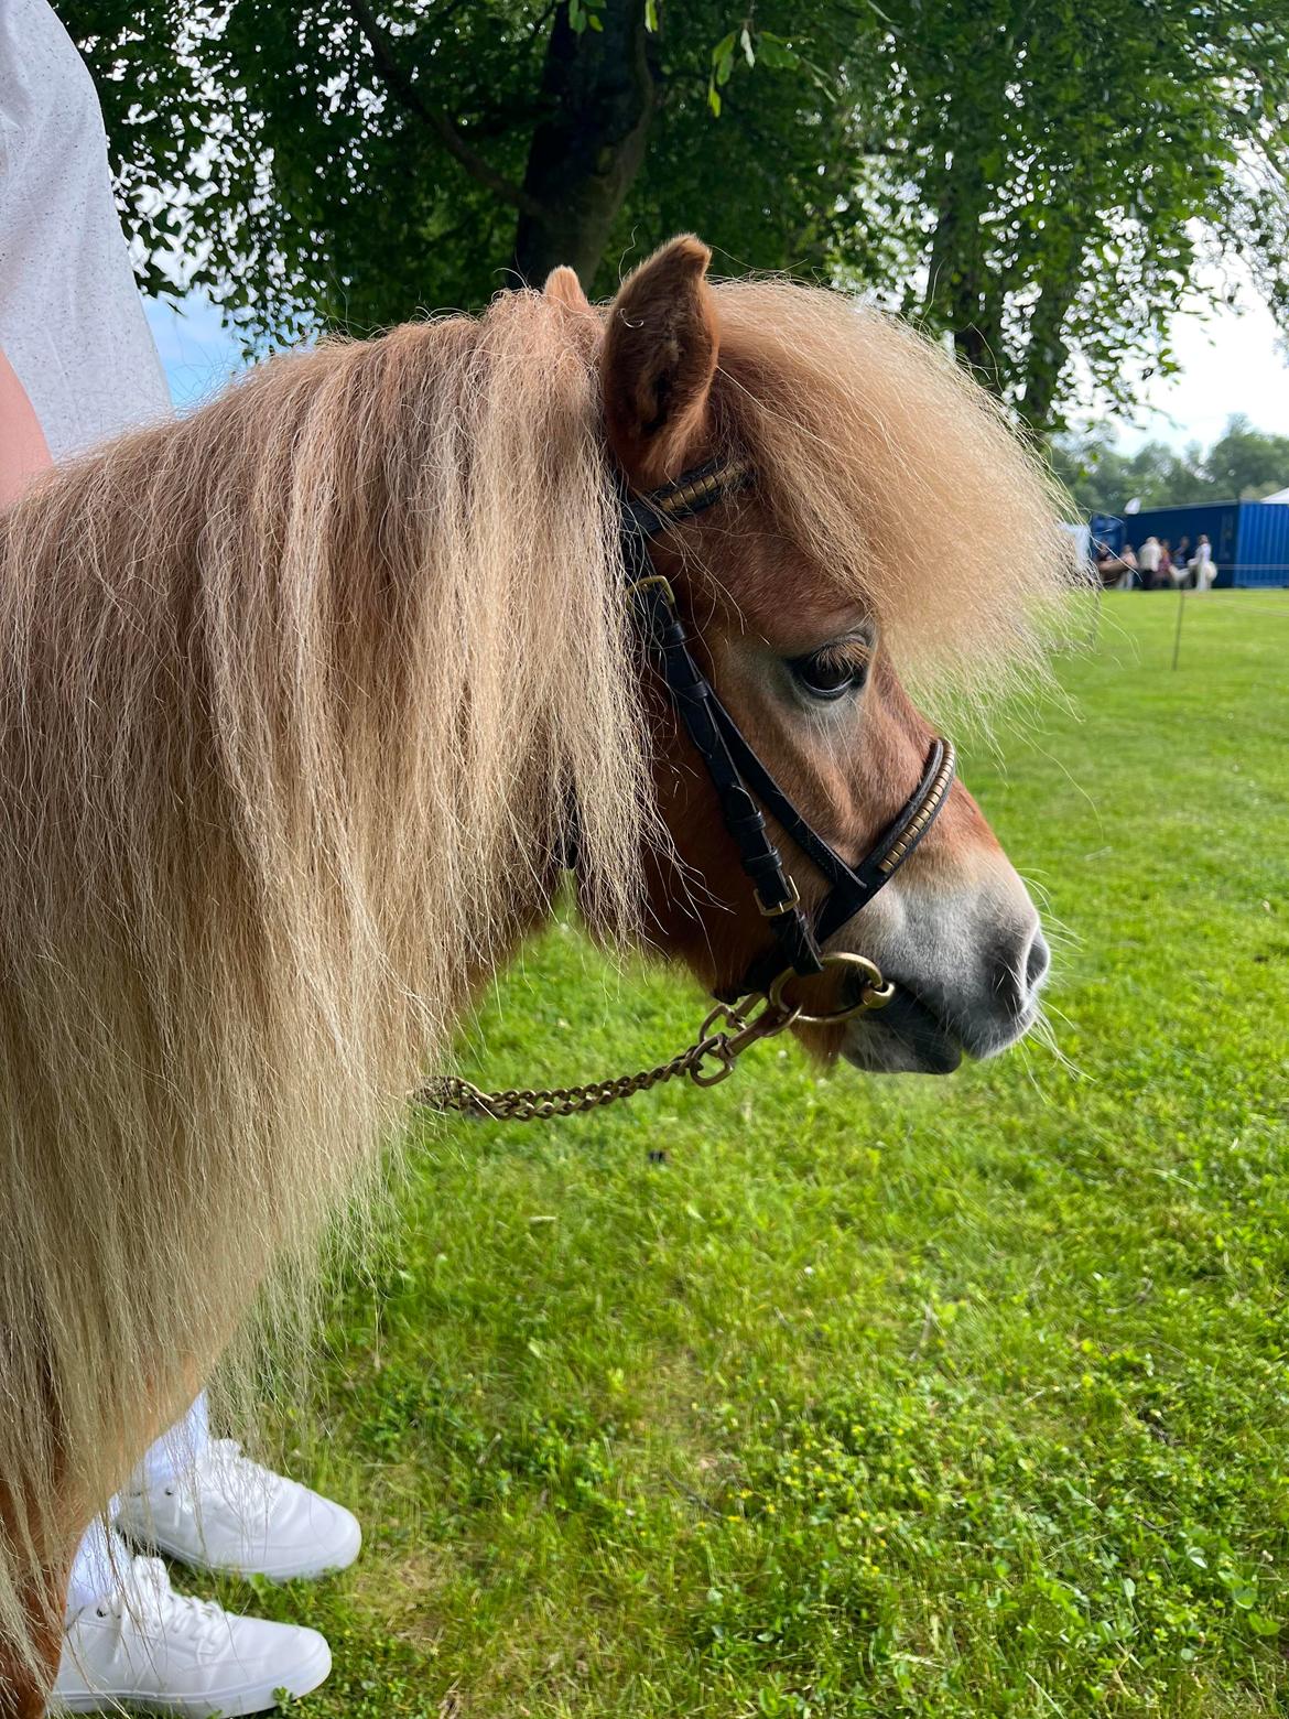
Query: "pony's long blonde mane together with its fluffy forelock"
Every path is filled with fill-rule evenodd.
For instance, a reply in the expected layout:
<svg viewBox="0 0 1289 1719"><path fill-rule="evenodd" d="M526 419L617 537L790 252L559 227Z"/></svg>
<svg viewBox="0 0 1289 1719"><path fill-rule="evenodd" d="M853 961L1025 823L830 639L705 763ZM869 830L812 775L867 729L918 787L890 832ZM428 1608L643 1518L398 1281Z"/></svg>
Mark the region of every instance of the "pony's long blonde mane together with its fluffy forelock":
<svg viewBox="0 0 1289 1719"><path fill-rule="evenodd" d="M717 291L791 529L899 650L1024 650L1050 509L997 418L842 301ZM648 737L588 328L521 292L275 359L0 519L0 1650L361 1200L571 801L593 913L636 923ZM1024 536L1016 566L973 533Z"/></svg>

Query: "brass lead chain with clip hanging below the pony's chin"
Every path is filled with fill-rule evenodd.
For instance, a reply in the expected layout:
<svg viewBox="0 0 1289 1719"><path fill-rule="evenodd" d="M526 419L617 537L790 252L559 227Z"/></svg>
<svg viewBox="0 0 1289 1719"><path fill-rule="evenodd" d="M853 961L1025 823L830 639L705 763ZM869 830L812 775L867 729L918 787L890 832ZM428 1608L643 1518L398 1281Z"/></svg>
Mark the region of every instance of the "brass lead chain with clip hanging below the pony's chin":
<svg viewBox="0 0 1289 1719"><path fill-rule="evenodd" d="M641 1069L638 1074L619 1074L614 1080L590 1081L586 1086L510 1086L505 1092L483 1092L455 1074L442 1074L419 1086L411 1102L426 1110L457 1110L493 1123L545 1123L552 1116L600 1110L607 1104L632 1098L638 1092L663 1086L682 1074L687 1074L696 1086L718 1086L729 1080L734 1064L749 1045L785 1031L799 1012L772 1004L765 995L748 997L737 1006L718 1002L699 1026L693 1045L670 1062L658 1062L657 1067Z"/></svg>

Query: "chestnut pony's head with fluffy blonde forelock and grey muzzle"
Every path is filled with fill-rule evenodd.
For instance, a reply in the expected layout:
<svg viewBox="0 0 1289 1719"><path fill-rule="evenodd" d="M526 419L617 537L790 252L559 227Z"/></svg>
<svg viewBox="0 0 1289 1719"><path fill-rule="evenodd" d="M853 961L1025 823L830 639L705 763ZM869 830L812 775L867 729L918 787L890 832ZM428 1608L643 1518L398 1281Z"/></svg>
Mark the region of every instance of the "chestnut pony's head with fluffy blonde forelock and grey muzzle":
<svg viewBox="0 0 1289 1719"><path fill-rule="evenodd" d="M710 677L796 808L851 863L918 784L933 731L913 674L980 691L1038 660L1040 612L1069 578L1054 493L997 409L930 344L846 299L706 280L677 239L608 309L610 449L646 492L712 459L751 483L670 528L657 567ZM552 282L571 303L571 282ZM1005 555L1002 554L1005 545ZM650 868L663 949L734 992L773 947L706 772L650 689L655 782L674 854ZM825 878L777 832L804 908ZM907 865L830 940L894 980L882 1011L801 1031L864 1069L947 1073L1035 1023L1048 970L1038 915L956 782ZM846 968L789 1002L858 1000Z"/></svg>

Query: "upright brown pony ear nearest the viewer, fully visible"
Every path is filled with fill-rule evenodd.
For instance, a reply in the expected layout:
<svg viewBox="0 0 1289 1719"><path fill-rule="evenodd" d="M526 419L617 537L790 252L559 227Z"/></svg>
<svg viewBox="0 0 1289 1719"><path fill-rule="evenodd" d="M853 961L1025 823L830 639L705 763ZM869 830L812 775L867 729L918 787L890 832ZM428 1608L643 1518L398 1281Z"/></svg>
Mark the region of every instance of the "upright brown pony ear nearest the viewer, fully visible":
<svg viewBox="0 0 1289 1719"><path fill-rule="evenodd" d="M672 239L627 277L608 311L605 428L638 490L677 478L708 426L718 351L710 261L693 234Z"/></svg>

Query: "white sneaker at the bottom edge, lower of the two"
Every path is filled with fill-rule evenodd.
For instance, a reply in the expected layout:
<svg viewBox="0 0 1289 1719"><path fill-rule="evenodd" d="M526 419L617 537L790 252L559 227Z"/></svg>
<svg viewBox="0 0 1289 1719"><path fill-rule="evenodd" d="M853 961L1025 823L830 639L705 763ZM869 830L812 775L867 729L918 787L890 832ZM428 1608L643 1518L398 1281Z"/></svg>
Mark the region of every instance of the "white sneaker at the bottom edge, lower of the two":
<svg viewBox="0 0 1289 1719"><path fill-rule="evenodd" d="M308 1695L330 1669L316 1630L186 1599L160 1557L134 1557L117 1588L67 1624L52 1712L124 1704L184 1719L260 1714L277 1705L278 1690Z"/></svg>

